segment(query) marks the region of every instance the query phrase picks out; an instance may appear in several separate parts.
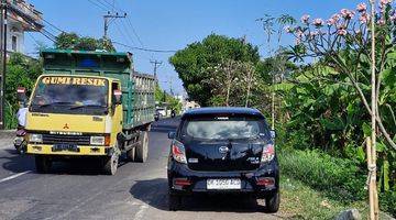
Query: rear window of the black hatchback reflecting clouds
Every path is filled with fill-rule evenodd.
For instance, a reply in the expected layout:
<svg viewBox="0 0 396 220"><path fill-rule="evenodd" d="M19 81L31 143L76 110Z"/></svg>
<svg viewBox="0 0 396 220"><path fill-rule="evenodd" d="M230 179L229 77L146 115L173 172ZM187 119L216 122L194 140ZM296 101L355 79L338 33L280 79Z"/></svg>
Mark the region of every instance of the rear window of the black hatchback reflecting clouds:
<svg viewBox="0 0 396 220"><path fill-rule="evenodd" d="M252 117L211 117L189 119L183 134L193 139L254 139L263 134L263 122Z"/></svg>

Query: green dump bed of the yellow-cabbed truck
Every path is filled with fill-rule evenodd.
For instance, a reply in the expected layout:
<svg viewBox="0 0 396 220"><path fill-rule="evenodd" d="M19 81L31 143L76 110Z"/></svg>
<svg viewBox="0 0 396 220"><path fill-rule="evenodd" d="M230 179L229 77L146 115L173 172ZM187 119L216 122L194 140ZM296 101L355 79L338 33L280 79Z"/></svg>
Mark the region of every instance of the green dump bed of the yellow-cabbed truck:
<svg viewBox="0 0 396 220"><path fill-rule="evenodd" d="M134 70L132 54L44 50L41 56L43 74L102 76L119 79L123 95L124 130L154 121L155 79L152 75Z"/></svg>

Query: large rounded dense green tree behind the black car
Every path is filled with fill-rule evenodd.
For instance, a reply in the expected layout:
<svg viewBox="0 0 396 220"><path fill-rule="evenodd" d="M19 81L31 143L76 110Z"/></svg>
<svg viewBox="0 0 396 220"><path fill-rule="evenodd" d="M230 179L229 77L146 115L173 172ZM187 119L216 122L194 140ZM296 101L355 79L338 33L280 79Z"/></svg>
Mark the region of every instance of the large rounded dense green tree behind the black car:
<svg viewBox="0 0 396 220"><path fill-rule="evenodd" d="M189 44L169 58L190 99L209 106L213 89L204 84L212 76L212 69L224 61L260 62L258 48L239 38L210 34L201 42Z"/></svg>

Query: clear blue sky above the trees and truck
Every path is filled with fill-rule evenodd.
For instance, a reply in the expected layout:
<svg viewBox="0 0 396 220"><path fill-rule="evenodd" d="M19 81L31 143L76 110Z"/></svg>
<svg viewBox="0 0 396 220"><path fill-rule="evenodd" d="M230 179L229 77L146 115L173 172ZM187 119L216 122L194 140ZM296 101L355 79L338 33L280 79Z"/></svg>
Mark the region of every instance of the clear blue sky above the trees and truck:
<svg viewBox="0 0 396 220"><path fill-rule="evenodd" d="M112 41L134 47L177 51L199 42L211 33L230 37L245 36L257 45L262 57L267 46L262 25L256 21L265 14L290 14L297 20L307 13L311 18L328 19L343 8L355 9L356 0L29 0L43 13L43 18L56 28L81 36L103 35L103 14L107 11L127 12L128 19L118 19L109 28ZM94 2L94 3L92 3ZM114 7L112 7L114 6ZM46 23L44 23L46 24ZM46 24L53 34L59 32ZM36 53L37 42L47 46L53 43L41 33L25 36L25 53ZM292 36L284 35L283 45L294 44ZM272 43L276 47L275 43ZM183 82L168 63L174 53L151 53L116 45L118 51L133 54L139 72L153 73L151 61L160 61L157 76L163 89L180 95Z"/></svg>

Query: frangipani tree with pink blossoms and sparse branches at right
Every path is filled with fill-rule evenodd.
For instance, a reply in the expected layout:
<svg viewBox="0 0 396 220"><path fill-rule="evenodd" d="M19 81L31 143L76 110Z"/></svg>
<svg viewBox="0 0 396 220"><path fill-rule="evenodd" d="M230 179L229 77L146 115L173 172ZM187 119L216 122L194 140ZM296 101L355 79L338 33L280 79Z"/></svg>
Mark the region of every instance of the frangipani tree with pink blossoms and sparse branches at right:
<svg viewBox="0 0 396 220"><path fill-rule="evenodd" d="M371 18L365 3L358 4L355 10L342 9L326 21L305 14L299 25L287 26L285 30L296 38L296 45L288 53L290 58L319 58L326 66L345 76L340 77L340 80L355 89L364 108L372 114L369 105L372 31L369 24L372 19L375 20L376 121L382 136L396 150L396 120L388 103L396 102L396 97L393 97L396 89L396 12L391 0L381 0L378 8L375 18ZM382 117L385 111L391 111L395 121L395 124L387 128Z"/></svg>

